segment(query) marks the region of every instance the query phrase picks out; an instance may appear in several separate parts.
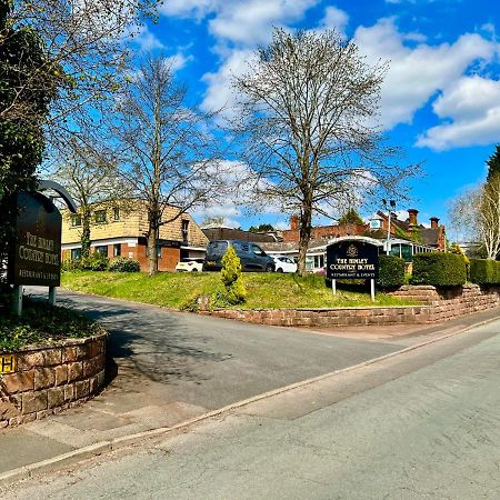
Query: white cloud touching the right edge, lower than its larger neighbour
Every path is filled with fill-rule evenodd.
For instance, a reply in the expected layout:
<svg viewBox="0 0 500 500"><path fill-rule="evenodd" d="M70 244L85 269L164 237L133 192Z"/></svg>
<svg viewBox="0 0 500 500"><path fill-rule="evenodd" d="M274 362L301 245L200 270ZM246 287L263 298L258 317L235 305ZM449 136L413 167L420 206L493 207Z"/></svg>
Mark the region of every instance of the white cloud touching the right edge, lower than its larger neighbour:
<svg viewBox="0 0 500 500"><path fill-rule="evenodd" d="M500 140L500 81L463 77L434 101L434 113L448 123L432 127L417 146L434 150L489 144Z"/></svg>

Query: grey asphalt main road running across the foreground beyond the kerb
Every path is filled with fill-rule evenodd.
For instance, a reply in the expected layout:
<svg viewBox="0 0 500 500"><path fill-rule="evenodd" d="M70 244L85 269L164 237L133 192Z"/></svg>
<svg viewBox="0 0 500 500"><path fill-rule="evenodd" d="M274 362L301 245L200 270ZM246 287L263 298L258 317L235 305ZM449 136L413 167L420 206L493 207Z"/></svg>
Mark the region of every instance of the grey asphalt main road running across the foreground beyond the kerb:
<svg viewBox="0 0 500 500"><path fill-rule="evenodd" d="M254 402L9 498L498 499L499 331L497 321Z"/></svg>

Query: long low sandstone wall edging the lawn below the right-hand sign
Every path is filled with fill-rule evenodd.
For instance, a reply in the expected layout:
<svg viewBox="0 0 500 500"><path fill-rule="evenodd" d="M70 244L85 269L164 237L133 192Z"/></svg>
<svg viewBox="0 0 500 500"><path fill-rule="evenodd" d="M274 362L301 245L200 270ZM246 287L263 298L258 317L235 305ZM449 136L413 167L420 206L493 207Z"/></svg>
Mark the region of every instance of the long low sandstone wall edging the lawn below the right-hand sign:
<svg viewBox="0 0 500 500"><path fill-rule="evenodd" d="M278 327L360 327L432 323L500 306L500 288L466 284L438 290L430 286L404 286L393 296L423 306L334 308L334 309L217 309L204 312L251 323Z"/></svg>

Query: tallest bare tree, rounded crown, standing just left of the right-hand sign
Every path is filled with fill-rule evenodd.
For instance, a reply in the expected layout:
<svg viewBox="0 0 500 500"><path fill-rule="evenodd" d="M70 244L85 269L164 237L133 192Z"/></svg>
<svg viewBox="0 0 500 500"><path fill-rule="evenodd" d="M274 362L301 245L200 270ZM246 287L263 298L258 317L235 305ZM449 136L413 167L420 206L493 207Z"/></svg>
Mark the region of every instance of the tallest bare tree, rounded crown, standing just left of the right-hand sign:
<svg viewBox="0 0 500 500"><path fill-rule="evenodd" d="M386 71L333 31L276 29L234 78L242 99L232 124L246 141L252 191L300 213L301 274L314 213L330 217L339 199L393 191L416 172L396 163L397 149L383 146L374 124Z"/></svg>

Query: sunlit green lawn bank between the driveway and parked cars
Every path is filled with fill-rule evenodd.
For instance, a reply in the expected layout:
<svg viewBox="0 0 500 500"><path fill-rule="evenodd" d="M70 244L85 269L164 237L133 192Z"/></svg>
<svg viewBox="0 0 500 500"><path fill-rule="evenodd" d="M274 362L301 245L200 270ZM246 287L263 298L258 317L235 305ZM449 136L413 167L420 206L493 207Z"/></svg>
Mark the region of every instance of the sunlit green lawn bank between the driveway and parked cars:
<svg viewBox="0 0 500 500"><path fill-rule="evenodd" d="M324 278L299 278L281 273L243 273L248 296L236 308L336 308L362 306L409 306L416 302L377 293L376 302L367 289L338 290L333 296ZM144 273L66 271L61 286L70 290L152 303L172 309L191 309L199 296L210 296L219 287L217 272L161 272L152 278Z"/></svg>

